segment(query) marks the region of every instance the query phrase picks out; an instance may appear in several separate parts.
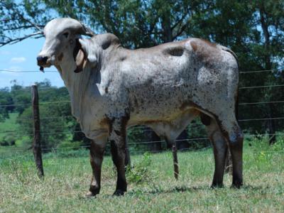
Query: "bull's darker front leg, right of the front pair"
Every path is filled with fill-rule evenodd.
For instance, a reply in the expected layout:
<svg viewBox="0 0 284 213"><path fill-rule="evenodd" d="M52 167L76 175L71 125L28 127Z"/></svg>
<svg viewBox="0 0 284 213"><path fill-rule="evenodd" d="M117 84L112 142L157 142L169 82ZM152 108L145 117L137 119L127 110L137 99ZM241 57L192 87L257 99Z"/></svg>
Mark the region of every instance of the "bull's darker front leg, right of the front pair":
<svg viewBox="0 0 284 213"><path fill-rule="evenodd" d="M111 157L116 165L117 181L114 195L124 195L127 190L125 177L125 146L126 146L126 123L127 119L121 117L112 119L109 128L109 141L111 143Z"/></svg>

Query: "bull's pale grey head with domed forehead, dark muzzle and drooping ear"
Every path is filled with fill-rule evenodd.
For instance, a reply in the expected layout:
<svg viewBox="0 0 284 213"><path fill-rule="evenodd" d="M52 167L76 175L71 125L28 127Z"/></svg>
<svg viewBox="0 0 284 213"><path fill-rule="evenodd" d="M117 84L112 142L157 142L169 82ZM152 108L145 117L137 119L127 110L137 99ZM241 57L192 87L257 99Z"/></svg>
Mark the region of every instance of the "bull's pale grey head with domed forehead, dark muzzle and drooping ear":
<svg viewBox="0 0 284 213"><path fill-rule="evenodd" d="M89 28L72 18L56 18L45 26L44 35L45 44L37 58L40 70L51 65L60 67L63 58L74 58L74 72L83 70L87 55L81 45L84 41L80 38L81 35L94 36Z"/></svg>

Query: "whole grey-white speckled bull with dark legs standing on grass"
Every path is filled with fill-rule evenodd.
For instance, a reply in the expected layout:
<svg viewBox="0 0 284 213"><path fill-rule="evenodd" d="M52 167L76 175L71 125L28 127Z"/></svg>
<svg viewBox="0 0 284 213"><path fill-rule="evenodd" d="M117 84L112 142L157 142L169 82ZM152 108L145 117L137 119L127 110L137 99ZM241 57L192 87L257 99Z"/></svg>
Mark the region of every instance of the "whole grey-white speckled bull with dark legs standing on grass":
<svg viewBox="0 0 284 213"><path fill-rule="evenodd" d="M72 114L92 139L93 174L87 196L99 193L108 138L117 168L114 195L123 195L126 126L150 126L174 143L197 116L214 147L212 186L223 184L227 145L232 186L242 185L243 133L235 116L239 70L231 50L198 38L128 50L116 35L94 35L72 18L50 21L44 35L38 65L57 67L70 93Z"/></svg>

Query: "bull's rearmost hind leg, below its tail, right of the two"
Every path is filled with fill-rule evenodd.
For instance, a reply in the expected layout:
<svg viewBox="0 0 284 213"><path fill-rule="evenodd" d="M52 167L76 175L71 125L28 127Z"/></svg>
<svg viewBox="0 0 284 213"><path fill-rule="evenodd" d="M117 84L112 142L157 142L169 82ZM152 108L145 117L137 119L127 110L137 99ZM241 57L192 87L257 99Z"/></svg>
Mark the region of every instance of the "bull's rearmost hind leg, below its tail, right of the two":
<svg viewBox="0 0 284 213"><path fill-rule="evenodd" d="M219 119L219 126L222 129L224 138L229 142L231 158L233 163L233 182L232 187L243 185L243 141L244 136L235 118Z"/></svg>

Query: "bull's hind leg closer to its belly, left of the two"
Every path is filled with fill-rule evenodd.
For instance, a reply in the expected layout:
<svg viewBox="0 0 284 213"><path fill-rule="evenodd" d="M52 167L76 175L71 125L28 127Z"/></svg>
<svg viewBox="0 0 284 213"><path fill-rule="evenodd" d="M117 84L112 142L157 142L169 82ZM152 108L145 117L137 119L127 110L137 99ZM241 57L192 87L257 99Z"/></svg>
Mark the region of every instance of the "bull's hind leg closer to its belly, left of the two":
<svg viewBox="0 0 284 213"><path fill-rule="evenodd" d="M215 119L201 114L201 121L206 126L207 134L214 151L215 169L212 187L222 187L228 146Z"/></svg>

